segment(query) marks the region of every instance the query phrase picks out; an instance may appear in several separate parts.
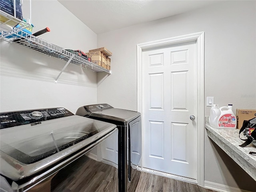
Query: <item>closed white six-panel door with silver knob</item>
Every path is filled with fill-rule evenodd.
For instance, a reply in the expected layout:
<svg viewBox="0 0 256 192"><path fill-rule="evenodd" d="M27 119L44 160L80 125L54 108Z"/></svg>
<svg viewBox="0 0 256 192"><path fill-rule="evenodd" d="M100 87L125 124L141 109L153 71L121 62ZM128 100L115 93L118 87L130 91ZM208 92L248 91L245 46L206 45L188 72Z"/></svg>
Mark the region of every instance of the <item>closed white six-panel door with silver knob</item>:
<svg viewBox="0 0 256 192"><path fill-rule="evenodd" d="M196 179L196 42L142 53L144 168Z"/></svg>

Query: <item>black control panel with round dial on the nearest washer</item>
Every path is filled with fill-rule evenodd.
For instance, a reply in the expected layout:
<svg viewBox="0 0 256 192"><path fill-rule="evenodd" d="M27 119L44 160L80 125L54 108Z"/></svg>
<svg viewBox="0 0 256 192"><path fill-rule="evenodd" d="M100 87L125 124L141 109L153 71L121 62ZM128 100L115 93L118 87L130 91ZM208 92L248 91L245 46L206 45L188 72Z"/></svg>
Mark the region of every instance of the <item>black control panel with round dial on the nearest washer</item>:
<svg viewBox="0 0 256 192"><path fill-rule="evenodd" d="M33 124L74 115L65 108L34 109L0 113L0 129Z"/></svg>

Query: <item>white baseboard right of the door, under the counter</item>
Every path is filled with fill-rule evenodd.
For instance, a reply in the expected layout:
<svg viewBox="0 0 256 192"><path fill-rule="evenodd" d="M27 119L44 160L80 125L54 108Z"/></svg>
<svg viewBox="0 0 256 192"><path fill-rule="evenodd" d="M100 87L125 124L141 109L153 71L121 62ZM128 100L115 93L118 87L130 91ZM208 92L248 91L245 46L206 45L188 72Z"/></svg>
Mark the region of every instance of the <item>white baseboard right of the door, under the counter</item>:
<svg viewBox="0 0 256 192"><path fill-rule="evenodd" d="M218 184L210 181L204 181L204 187L219 192L250 192L239 188L230 187L223 184Z"/></svg>

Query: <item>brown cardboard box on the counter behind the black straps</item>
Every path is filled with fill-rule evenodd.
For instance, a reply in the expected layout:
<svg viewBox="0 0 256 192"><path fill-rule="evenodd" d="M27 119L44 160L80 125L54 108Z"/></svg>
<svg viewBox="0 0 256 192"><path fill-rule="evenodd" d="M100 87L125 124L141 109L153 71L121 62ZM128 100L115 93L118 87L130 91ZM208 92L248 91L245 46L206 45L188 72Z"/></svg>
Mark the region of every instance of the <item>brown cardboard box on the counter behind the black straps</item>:
<svg viewBox="0 0 256 192"><path fill-rule="evenodd" d="M256 117L256 109L236 109L237 128L241 129L244 120Z"/></svg>

